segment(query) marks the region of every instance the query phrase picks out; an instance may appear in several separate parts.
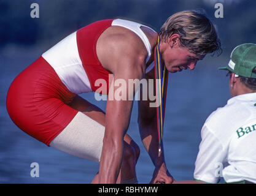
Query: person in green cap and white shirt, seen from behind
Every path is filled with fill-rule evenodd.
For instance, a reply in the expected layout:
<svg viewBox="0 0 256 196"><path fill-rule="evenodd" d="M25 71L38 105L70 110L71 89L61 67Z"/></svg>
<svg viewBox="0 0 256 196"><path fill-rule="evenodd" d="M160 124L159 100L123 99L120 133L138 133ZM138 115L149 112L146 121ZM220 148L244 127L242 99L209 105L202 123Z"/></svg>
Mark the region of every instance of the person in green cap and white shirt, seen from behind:
<svg viewBox="0 0 256 196"><path fill-rule="evenodd" d="M228 70L232 98L203 125L194 179L256 183L256 44L236 47L219 69Z"/></svg>

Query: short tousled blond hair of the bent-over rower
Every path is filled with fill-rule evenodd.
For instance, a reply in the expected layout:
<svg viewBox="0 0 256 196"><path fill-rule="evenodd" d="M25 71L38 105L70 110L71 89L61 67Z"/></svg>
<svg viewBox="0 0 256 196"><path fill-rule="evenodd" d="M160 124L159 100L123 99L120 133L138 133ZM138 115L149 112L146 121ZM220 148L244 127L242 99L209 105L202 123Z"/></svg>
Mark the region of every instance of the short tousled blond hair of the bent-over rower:
<svg viewBox="0 0 256 196"><path fill-rule="evenodd" d="M222 53L217 31L211 21L196 10L177 12L166 20L160 29L160 37L165 40L173 34L179 34L181 47L188 48L196 55Z"/></svg>

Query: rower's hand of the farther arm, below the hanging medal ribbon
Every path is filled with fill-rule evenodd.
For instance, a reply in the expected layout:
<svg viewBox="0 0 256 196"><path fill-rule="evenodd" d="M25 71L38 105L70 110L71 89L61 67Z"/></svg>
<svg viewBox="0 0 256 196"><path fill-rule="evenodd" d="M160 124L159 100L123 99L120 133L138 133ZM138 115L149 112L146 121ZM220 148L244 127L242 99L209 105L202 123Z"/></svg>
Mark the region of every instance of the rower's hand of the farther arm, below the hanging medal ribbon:
<svg viewBox="0 0 256 196"><path fill-rule="evenodd" d="M171 176L165 164L162 164L160 167L155 167L150 184L171 184L173 181L173 176Z"/></svg>

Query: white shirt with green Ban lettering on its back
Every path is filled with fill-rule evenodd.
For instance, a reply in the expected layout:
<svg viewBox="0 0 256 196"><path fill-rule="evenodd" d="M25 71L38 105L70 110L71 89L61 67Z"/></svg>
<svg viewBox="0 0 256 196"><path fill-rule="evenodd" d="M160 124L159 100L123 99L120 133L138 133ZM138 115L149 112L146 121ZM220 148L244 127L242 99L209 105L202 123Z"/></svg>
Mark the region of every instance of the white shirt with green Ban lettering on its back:
<svg viewBox="0 0 256 196"><path fill-rule="evenodd" d="M223 176L227 183L256 183L255 104L256 92L242 94L206 119L195 162L195 179L217 183Z"/></svg>

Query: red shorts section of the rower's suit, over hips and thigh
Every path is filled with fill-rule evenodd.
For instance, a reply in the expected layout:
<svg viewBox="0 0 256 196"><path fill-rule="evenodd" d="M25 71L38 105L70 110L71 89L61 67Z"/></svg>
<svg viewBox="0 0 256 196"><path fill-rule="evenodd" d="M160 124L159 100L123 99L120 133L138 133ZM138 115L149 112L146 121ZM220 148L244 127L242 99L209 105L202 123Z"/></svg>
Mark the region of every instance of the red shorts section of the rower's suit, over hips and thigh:
<svg viewBox="0 0 256 196"><path fill-rule="evenodd" d="M6 106L21 130L49 145L77 114L68 106L75 96L41 56L12 82Z"/></svg>

